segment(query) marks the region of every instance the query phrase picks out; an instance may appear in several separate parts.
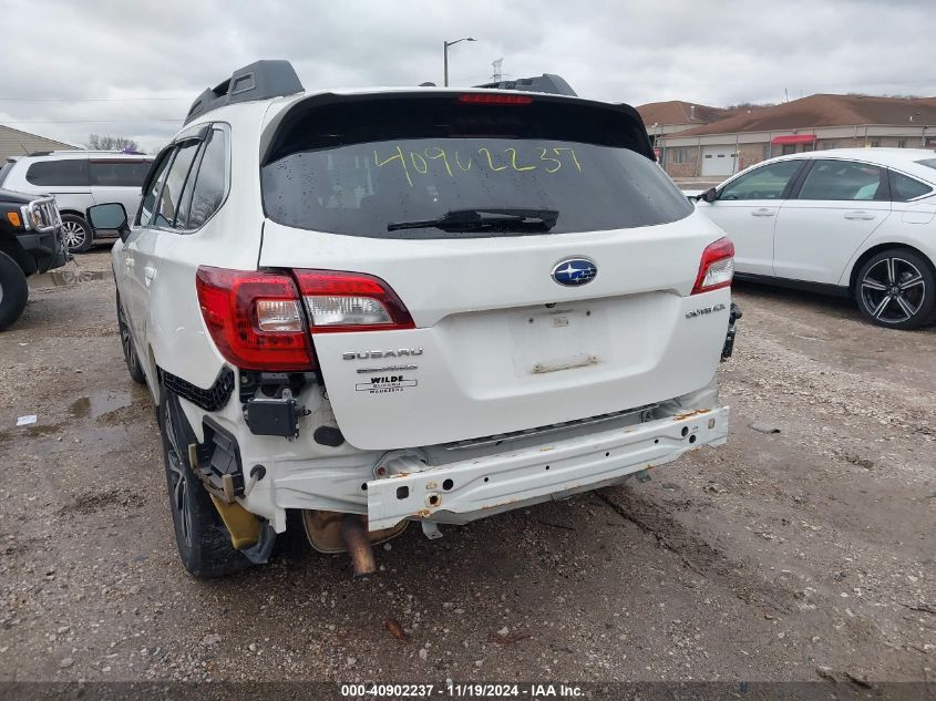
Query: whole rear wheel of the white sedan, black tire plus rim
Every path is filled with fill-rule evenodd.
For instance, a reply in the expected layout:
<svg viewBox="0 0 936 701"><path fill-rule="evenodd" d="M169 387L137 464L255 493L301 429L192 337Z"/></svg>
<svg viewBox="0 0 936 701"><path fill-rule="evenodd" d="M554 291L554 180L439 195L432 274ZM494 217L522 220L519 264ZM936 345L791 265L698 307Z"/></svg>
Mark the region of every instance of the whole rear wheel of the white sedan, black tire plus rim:
<svg viewBox="0 0 936 701"><path fill-rule="evenodd" d="M933 264L908 248L875 254L855 278L855 301L865 319L888 329L916 329L936 312Z"/></svg>

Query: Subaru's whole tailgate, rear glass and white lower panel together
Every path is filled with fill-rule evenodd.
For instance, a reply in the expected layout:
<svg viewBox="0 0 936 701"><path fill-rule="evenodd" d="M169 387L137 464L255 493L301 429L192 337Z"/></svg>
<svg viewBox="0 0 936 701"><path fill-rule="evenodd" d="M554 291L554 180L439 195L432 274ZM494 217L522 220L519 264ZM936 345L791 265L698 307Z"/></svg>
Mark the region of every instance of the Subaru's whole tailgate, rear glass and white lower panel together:
<svg viewBox="0 0 936 701"><path fill-rule="evenodd" d="M730 292L690 291L721 233L644 155L636 134L646 133L629 112L555 99L452 106L457 96L448 93L382 97L381 126L366 116L377 104L367 100L309 110L305 122L287 115L263 168L270 219L260 266L376 276L415 326L312 329L352 445L533 429L711 380ZM419 225L488 205L559 215L549 230ZM388 230L400 223L413 226ZM568 276L559 271L583 265L594 279L560 284Z"/></svg>

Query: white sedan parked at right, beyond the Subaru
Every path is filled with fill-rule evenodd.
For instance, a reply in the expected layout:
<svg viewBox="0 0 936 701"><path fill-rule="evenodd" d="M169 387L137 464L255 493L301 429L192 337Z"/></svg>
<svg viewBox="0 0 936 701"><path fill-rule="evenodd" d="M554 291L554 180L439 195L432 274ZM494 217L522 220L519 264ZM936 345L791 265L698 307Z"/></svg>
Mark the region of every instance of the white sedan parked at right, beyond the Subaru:
<svg viewBox="0 0 936 701"><path fill-rule="evenodd" d="M936 320L936 153L836 148L771 158L698 196L736 275L855 299L874 323Z"/></svg>

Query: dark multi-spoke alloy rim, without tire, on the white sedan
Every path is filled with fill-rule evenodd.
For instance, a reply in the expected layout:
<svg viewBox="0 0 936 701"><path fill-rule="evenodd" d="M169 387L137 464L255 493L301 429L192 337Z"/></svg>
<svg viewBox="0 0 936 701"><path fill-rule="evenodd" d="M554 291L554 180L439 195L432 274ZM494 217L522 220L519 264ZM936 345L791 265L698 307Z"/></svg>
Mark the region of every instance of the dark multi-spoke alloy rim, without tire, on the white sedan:
<svg viewBox="0 0 936 701"><path fill-rule="evenodd" d="M926 281L919 269L904 258L882 258L865 272L861 299L882 323L914 318L926 300Z"/></svg>

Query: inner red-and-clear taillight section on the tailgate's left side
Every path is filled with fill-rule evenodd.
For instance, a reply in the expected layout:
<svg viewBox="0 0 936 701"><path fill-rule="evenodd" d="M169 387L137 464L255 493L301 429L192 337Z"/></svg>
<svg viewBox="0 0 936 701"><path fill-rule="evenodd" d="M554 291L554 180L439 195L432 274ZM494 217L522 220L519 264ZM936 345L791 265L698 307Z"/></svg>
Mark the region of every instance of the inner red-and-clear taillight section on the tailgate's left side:
<svg viewBox="0 0 936 701"><path fill-rule="evenodd" d="M312 333L390 331L415 324L397 293L361 272L296 270Z"/></svg>

